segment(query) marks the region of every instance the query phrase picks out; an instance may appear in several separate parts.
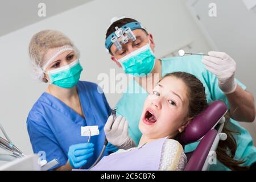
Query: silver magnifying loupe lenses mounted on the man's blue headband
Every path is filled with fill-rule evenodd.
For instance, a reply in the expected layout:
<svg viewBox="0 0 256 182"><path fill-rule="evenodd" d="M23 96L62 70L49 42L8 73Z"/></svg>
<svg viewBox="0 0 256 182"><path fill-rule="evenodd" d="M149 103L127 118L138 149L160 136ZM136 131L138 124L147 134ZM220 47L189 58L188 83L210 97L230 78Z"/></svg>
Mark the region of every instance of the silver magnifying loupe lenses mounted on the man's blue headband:
<svg viewBox="0 0 256 182"><path fill-rule="evenodd" d="M124 34L126 34L126 36ZM127 27L125 30L123 30L123 28L115 27L115 35L116 36L111 39L111 42L119 51L122 49L122 44L126 44L129 39L132 41L136 40L136 36L133 34L133 31L131 31L130 27ZM120 41L118 38L121 38Z"/></svg>

